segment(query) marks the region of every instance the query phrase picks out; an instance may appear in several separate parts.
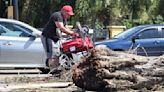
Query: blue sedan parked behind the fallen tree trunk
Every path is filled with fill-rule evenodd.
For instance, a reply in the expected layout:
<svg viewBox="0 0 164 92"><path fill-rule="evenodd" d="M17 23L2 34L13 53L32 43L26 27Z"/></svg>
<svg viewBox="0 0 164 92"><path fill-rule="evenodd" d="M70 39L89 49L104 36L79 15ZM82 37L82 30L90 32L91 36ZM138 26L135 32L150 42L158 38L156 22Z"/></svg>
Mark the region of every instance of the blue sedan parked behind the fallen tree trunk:
<svg viewBox="0 0 164 92"><path fill-rule="evenodd" d="M104 44L114 51L129 51L138 48L136 50L138 55L159 56L164 54L164 24L136 26L110 40L95 44Z"/></svg>

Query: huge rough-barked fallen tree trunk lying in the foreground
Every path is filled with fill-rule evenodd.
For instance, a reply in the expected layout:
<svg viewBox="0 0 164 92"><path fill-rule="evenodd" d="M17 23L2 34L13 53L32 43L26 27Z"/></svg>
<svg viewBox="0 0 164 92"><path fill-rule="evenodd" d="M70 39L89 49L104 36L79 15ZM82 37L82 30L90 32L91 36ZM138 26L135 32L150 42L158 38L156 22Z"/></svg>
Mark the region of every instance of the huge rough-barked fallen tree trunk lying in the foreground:
<svg viewBox="0 0 164 92"><path fill-rule="evenodd" d="M164 88L164 56L137 56L98 46L74 69L73 81L92 91L155 91Z"/></svg>

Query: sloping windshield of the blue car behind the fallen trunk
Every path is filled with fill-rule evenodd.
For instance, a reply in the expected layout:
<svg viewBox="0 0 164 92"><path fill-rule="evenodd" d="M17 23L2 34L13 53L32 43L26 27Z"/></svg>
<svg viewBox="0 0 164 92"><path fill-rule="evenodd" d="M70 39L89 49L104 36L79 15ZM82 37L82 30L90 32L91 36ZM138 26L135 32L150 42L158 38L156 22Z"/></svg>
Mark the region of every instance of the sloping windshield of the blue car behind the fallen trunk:
<svg viewBox="0 0 164 92"><path fill-rule="evenodd" d="M135 32L137 32L138 30L140 30L142 27L133 27L130 28L126 31L123 31L121 33L119 33L118 35L114 36L113 39L124 39L127 38L128 36L134 34Z"/></svg>

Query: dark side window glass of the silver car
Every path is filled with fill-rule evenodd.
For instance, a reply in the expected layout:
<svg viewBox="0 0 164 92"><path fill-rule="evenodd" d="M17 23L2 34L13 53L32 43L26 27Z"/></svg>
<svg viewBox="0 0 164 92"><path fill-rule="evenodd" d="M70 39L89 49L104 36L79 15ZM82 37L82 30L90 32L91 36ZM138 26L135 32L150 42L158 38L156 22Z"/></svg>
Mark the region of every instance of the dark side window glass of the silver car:
<svg viewBox="0 0 164 92"><path fill-rule="evenodd" d="M0 22L0 24L13 31L14 33L20 33L19 37L29 37L32 34L32 30L21 25L4 22Z"/></svg>

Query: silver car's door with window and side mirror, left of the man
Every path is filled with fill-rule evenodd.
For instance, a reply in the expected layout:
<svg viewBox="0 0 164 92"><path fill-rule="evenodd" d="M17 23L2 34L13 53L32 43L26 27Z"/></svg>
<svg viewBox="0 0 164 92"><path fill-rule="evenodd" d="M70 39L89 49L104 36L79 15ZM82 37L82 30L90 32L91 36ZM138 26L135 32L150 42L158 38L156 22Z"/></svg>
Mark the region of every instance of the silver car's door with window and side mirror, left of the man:
<svg viewBox="0 0 164 92"><path fill-rule="evenodd" d="M2 24L1 31L4 31L4 33L0 34L0 66L44 66L44 51L40 38L34 37L32 30L23 26L12 23Z"/></svg>

